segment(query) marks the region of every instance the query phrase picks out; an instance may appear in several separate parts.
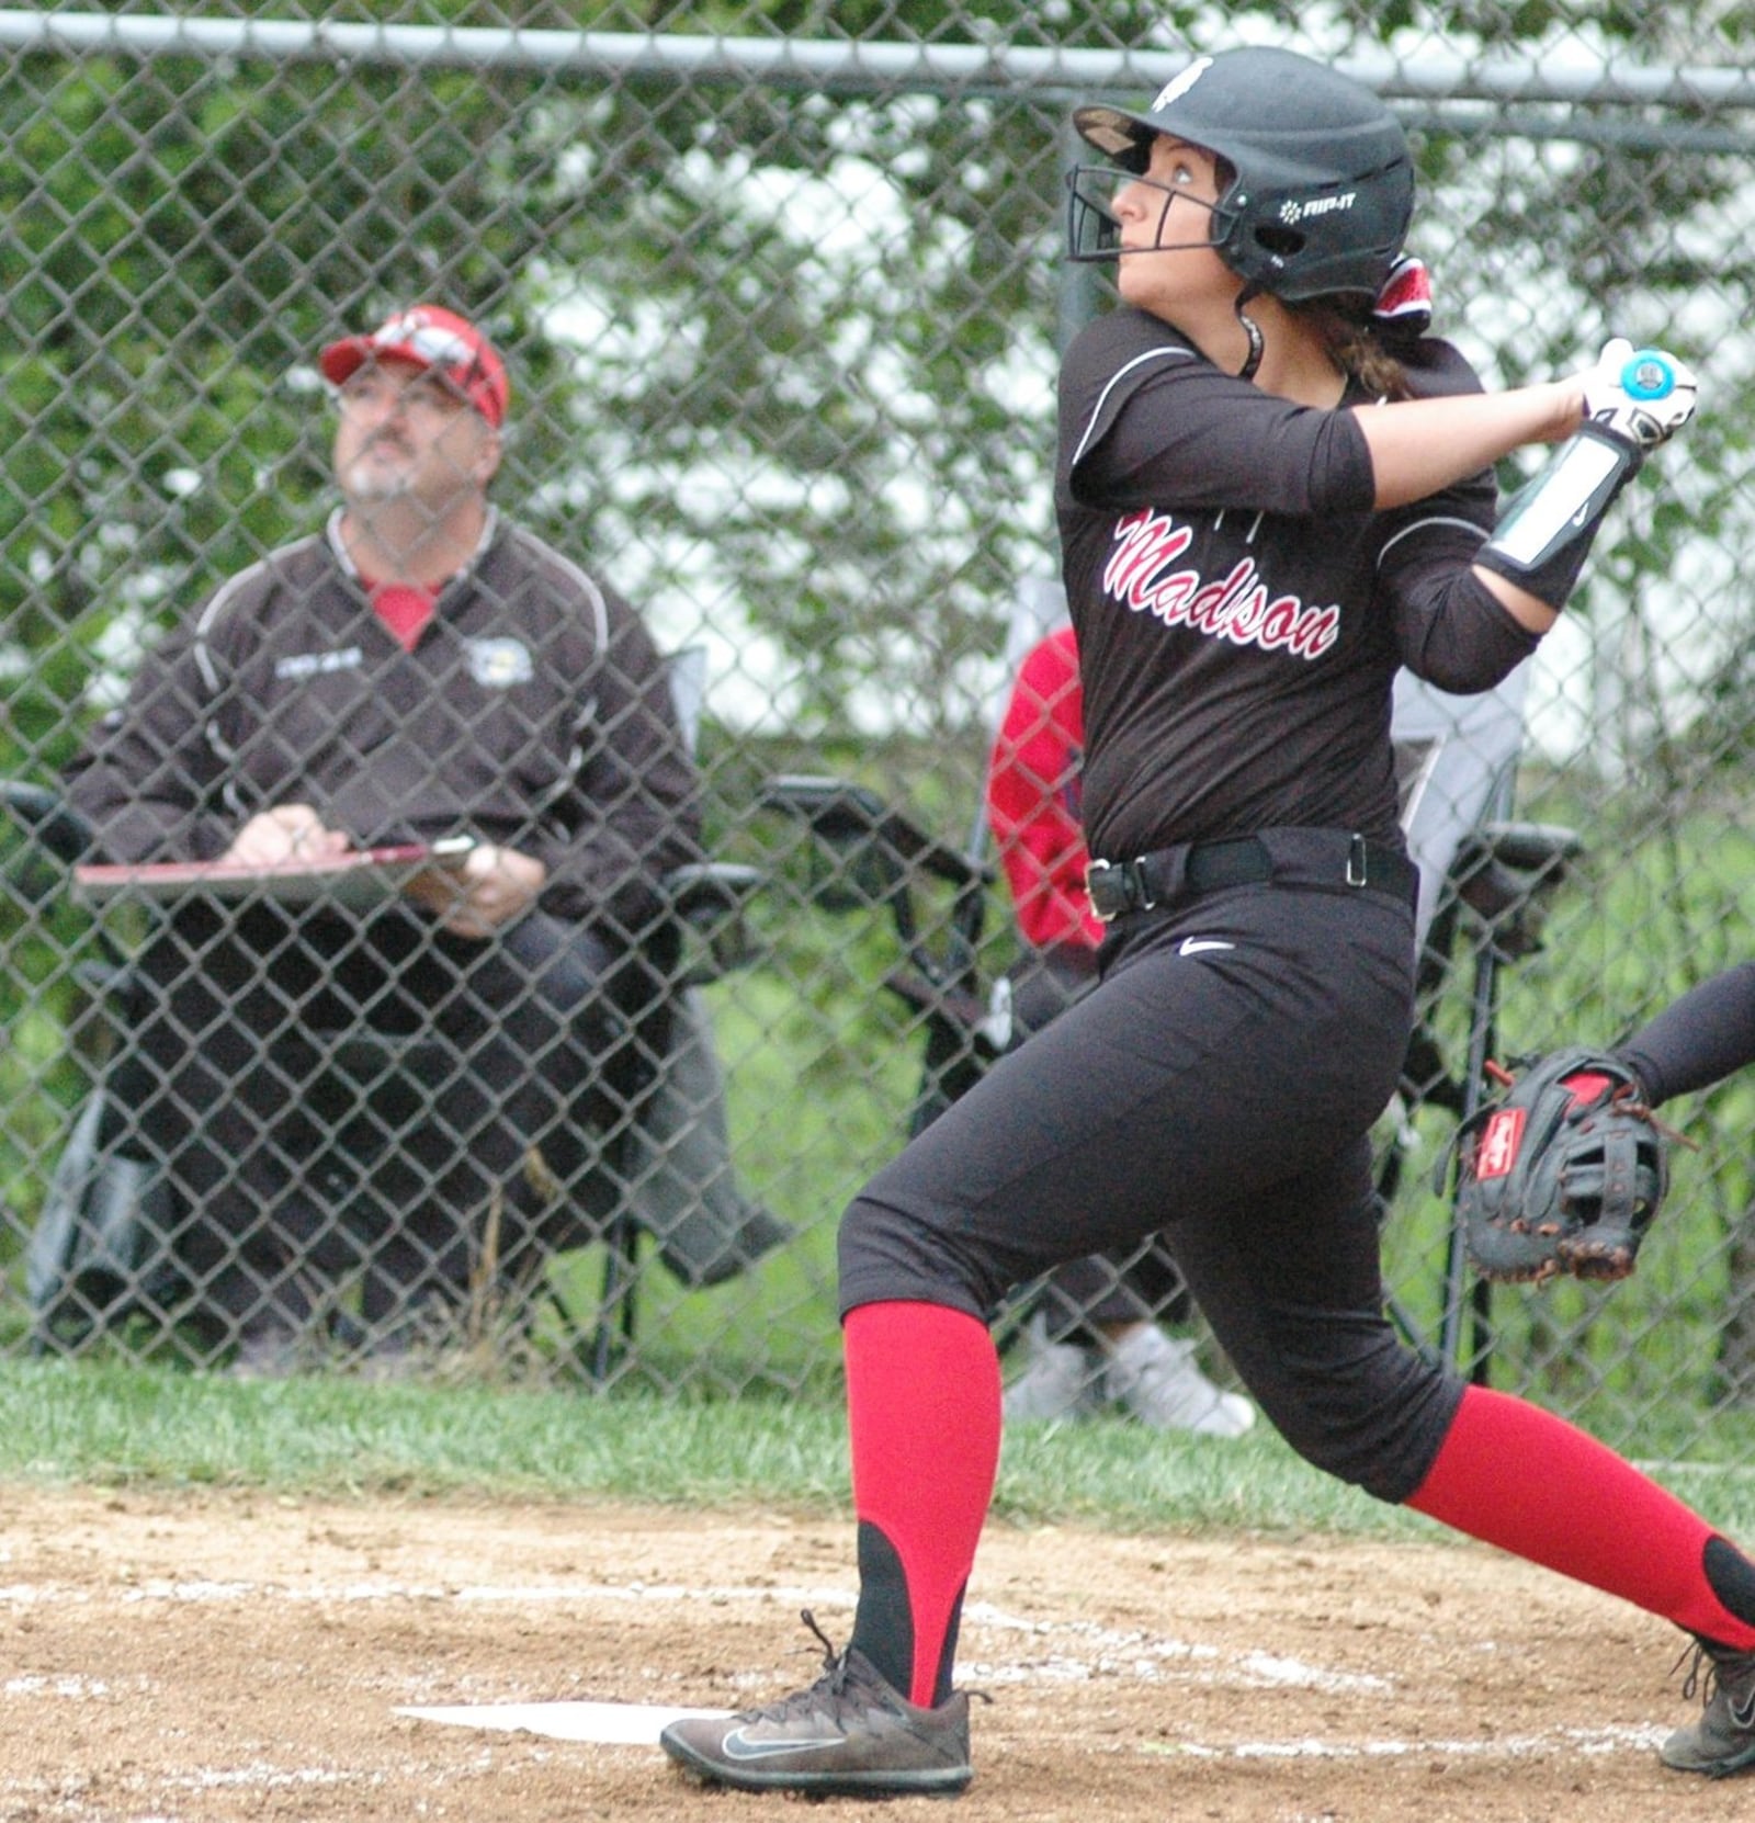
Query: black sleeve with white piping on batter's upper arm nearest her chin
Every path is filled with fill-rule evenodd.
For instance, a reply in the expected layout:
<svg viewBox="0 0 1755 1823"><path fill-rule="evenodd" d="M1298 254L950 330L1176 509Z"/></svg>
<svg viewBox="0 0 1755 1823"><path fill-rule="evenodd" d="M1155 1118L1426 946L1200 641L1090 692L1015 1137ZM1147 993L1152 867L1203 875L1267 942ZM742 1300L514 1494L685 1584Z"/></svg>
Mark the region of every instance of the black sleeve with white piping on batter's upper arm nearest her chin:
<svg viewBox="0 0 1755 1823"><path fill-rule="evenodd" d="M1369 512L1370 452L1350 408L1316 410L1221 374L1172 330L1123 310L1061 366L1061 494L1130 512Z"/></svg>

